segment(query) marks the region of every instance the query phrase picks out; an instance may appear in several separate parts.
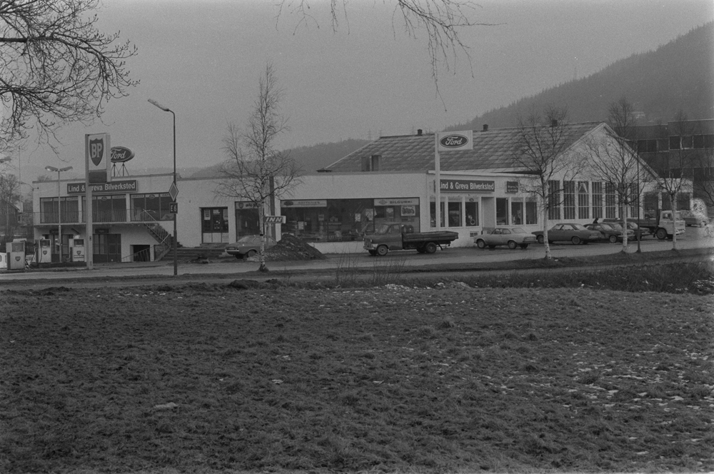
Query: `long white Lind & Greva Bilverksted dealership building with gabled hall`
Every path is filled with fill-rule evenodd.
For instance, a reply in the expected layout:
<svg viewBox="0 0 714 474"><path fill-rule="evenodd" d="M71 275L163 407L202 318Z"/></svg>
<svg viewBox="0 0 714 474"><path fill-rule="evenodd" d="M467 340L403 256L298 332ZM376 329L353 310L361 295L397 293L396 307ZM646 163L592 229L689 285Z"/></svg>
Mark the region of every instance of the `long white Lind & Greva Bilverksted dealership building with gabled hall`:
<svg viewBox="0 0 714 474"><path fill-rule="evenodd" d="M573 159L585 153L586 141L608 136L607 125L601 122L561 127L563 153ZM278 238L291 233L323 253L341 253L362 251L363 235L380 223L434 230L437 214L439 228L459 234L453 246L473 246L473 236L494 226L540 229L538 202L522 191L523 183L533 176L515 158L518 129L484 126L469 139L468 149L440 151L437 171L434 133L420 130L378 138L326 168L301 176L290 194L277 198L271 203L273 211L266 212L285 216L285 223L270 232ZM181 246L219 246L260 233L257 208L216 193L220 179L177 177ZM589 223L620 216L614 190L607 183L586 175L569 180L565 173L552 179L563 191L550 208L549 221ZM111 183L91 185L94 262L154 260L168 250L174 226L169 208L172 182L169 173L114 176ZM49 241L53 255L58 254L55 258L60 242L62 255L74 258L75 247L86 238L84 180L62 180L59 186L58 181L41 181L33 186L34 209L39 211L34 216L35 238ZM645 193L656 195L652 184ZM689 196L685 197L679 208L688 208ZM657 206L662 203L655 201ZM628 212L635 216L637 210Z"/></svg>

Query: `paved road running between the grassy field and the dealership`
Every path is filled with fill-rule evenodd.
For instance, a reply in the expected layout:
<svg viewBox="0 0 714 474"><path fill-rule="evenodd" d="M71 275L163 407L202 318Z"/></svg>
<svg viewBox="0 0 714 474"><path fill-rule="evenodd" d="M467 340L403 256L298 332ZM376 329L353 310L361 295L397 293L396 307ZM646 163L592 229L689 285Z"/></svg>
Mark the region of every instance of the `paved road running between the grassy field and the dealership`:
<svg viewBox="0 0 714 474"><path fill-rule="evenodd" d="M678 238L680 250L714 249L714 228L688 227L685 235ZM672 241L658 241L655 238L645 238L640 243L644 253L669 251ZM571 243L554 243L550 246L553 258L614 255L622 251L622 244L593 243L574 246ZM635 252L637 243L628 246L628 252ZM134 286L160 283L188 283L195 281L220 282L235 279L251 279L265 281L269 278L298 279L329 278L334 279L338 270L348 272L352 269L371 271L425 272L429 268L440 269L453 266L463 267L471 264L472 268L479 263L506 262L516 260L535 260L545 256L542 245L535 244L527 249L508 248L484 249L478 248L446 248L432 255L416 251L390 252L386 257L369 256L366 252L336 255L329 254L325 260L268 262L268 273L258 273L258 263L241 261L236 258L219 258L208 263L183 263L178 265L178 276L174 276L173 261L134 262L134 263L100 263L92 270L86 268L56 268L28 271L12 271L0 273L1 289L40 288L47 286L67 287L99 287L106 285ZM711 256L700 253L693 258ZM473 271L473 269L471 270Z"/></svg>

